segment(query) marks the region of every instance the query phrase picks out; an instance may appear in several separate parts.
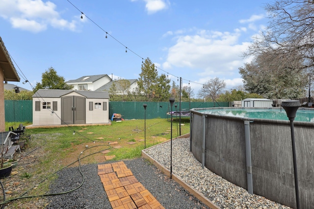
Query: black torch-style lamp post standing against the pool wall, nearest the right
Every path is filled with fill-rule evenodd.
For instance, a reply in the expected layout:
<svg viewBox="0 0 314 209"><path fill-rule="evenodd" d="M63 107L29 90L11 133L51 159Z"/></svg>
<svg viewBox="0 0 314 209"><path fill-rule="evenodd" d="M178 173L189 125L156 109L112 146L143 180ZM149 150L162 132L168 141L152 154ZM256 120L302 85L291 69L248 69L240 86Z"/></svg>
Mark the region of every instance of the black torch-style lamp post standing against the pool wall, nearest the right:
<svg viewBox="0 0 314 209"><path fill-rule="evenodd" d="M294 140L293 120L295 118L296 111L301 106L301 104L300 104L299 100L287 100L287 101L283 101L281 103L281 106L285 109L285 111L287 113L287 116L288 116L288 118L290 120L296 208L300 209L298 172L297 172L297 166L296 166L296 154L295 154L295 140Z"/></svg>

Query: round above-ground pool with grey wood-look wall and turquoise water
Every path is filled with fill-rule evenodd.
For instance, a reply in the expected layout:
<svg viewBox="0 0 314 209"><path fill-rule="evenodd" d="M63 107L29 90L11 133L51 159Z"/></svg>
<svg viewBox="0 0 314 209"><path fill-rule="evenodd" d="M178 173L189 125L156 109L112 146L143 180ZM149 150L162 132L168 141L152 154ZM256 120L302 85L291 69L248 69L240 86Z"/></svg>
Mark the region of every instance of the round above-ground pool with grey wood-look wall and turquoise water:
<svg viewBox="0 0 314 209"><path fill-rule="evenodd" d="M192 109L190 149L248 192L296 207L290 121L283 108ZM299 108L294 137L301 208L314 205L314 108Z"/></svg>

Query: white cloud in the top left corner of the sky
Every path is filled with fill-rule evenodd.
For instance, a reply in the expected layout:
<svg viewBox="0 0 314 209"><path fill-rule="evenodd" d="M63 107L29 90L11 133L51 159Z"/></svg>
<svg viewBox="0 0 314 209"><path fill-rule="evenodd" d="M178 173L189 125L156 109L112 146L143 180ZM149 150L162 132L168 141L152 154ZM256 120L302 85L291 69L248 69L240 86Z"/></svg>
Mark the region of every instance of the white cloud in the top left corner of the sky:
<svg viewBox="0 0 314 209"><path fill-rule="evenodd" d="M0 5L0 16L14 28L35 33L46 30L48 25L72 31L77 29L78 22L62 19L51 1L0 0Z"/></svg>

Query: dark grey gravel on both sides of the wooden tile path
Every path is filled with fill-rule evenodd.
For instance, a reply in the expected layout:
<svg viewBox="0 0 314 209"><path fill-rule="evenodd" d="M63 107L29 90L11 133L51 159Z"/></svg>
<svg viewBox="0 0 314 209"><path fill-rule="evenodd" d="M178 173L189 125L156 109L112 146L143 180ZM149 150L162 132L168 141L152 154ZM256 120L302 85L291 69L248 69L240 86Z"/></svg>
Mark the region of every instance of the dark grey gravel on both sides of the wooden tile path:
<svg viewBox="0 0 314 209"><path fill-rule="evenodd" d="M113 162L110 162L113 163ZM169 179L148 161L139 158L124 160L135 178L148 189L165 209L208 209L197 198L187 192L174 180ZM100 177L97 175L97 165L81 166L85 176L83 185L75 191L49 196L47 209L110 209L111 205L105 193ZM78 167L70 167L58 172L58 179L51 185L52 193L62 193L82 182Z"/></svg>

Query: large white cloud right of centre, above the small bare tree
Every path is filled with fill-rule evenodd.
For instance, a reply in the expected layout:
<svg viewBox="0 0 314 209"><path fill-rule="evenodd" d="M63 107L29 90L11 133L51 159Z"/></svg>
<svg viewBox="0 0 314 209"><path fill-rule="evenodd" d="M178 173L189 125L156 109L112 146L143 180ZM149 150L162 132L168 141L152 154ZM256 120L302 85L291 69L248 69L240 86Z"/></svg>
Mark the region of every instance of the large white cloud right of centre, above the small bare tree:
<svg viewBox="0 0 314 209"><path fill-rule="evenodd" d="M243 65L241 55L248 42L238 43L240 31L198 31L195 35L178 36L174 46L168 49L164 69L189 68L201 70L198 75L222 77L237 73Z"/></svg>

